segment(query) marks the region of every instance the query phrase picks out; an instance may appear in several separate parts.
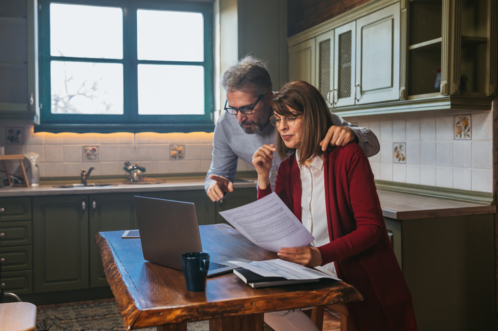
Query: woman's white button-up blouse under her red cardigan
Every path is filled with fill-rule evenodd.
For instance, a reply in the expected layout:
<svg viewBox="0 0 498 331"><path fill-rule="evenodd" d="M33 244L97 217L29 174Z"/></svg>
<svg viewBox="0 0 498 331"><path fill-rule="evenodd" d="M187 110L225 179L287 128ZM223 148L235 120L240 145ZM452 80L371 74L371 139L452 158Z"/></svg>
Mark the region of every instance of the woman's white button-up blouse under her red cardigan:
<svg viewBox="0 0 498 331"><path fill-rule="evenodd" d="M301 172L301 221L315 238L312 246L320 247L330 242L325 207L323 160L314 157L310 166L300 165L299 153L296 152L296 161ZM324 267L337 277L334 262L325 264Z"/></svg>

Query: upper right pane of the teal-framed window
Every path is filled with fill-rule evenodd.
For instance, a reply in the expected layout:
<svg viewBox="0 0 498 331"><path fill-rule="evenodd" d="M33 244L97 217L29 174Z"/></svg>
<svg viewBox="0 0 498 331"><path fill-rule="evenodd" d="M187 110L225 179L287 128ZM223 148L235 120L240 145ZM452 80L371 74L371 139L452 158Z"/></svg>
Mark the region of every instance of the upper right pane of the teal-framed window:
<svg viewBox="0 0 498 331"><path fill-rule="evenodd" d="M138 10L138 59L203 61L203 22L195 12Z"/></svg>

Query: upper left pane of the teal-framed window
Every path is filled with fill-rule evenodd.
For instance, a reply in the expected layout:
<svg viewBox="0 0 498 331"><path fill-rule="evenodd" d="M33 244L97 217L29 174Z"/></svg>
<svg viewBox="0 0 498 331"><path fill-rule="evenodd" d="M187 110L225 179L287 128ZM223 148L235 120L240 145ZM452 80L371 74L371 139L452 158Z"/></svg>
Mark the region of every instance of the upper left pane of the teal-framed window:
<svg viewBox="0 0 498 331"><path fill-rule="evenodd" d="M122 9L50 4L50 54L122 58Z"/></svg>

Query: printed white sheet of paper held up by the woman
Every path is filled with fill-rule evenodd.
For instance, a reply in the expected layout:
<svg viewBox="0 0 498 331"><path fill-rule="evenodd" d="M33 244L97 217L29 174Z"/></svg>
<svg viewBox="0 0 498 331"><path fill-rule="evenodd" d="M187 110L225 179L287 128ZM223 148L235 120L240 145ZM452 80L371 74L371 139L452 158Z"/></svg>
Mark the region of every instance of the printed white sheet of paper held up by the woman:
<svg viewBox="0 0 498 331"><path fill-rule="evenodd" d="M276 193L219 214L246 238L268 251L304 247L314 240Z"/></svg>

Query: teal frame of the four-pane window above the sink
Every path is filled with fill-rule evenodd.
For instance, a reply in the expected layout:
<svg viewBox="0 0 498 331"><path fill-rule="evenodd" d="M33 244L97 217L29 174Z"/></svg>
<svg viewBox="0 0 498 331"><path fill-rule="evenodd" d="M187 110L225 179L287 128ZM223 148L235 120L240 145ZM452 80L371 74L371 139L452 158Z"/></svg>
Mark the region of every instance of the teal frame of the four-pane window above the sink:
<svg viewBox="0 0 498 331"><path fill-rule="evenodd" d="M123 10L122 59L73 58L50 55L50 3L98 5L120 7ZM36 131L51 132L117 132L127 130L142 132L188 132L214 129L214 47L213 4L194 1L166 0L39 0L39 95L41 126ZM200 12L204 17L204 61L138 60L137 15L138 9ZM50 87L50 63L52 60L67 62L119 63L123 66L123 114L53 114ZM204 67L204 114L202 115L139 115L138 114L138 65L202 65ZM159 98L161 98L159 96ZM167 102L167 100L164 100ZM188 106L188 100L185 100ZM48 105L48 106L45 106ZM61 128L61 126L64 128Z"/></svg>

